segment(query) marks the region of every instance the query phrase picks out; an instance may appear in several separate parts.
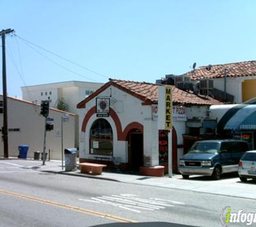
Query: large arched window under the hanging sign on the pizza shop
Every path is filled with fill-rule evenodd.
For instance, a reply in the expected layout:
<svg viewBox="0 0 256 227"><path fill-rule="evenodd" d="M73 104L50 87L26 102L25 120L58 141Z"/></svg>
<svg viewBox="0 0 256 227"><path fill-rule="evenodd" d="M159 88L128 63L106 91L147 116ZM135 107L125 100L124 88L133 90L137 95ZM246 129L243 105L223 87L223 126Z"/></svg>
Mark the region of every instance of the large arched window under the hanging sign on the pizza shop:
<svg viewBox="0 0 256 227"><path fill-rule="evenodd" d="M113 131L107 120L95 120L90 131L90 154L113 154Z"/></svg>

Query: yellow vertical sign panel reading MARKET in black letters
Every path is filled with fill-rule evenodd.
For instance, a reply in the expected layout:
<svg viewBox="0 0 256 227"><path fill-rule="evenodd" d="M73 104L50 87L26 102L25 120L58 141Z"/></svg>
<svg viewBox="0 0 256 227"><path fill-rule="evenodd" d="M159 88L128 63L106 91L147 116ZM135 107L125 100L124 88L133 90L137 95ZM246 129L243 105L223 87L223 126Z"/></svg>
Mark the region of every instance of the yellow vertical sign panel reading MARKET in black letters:
<svg viewBox="0 0 256 227"><path fill-rule="evenodd" d="M165 87L165 129L172 129L172 90Z"/></svg>

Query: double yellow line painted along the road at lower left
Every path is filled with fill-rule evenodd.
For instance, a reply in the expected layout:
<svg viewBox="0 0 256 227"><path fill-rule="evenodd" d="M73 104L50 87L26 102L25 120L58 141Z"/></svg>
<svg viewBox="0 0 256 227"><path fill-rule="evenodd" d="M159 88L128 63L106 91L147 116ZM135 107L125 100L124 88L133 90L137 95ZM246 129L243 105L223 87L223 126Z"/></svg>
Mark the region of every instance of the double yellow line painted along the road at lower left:
<svg viewBox="0 0 256 227"><path fill-rule="evenodd" d="M96 211L93 211L93 210L87 210L87 209L84 209L84 208L73 207L72 205L61 204L61 203L53 202L53 201L50 201L50 200L43 200L41 198L36 198L36 197L28 196L28 195L13 193L11 191L5 191L5 190L0 189L0 193L15 196L15 197L18 197L18 198L25 198L26 200L31 200L31 201L34 201L34 202L40 202L40 203L44 203L44 204L48 204L48 205L54 205L56 207L65 208L65 209L69 209L69 210L73 210L73 211L77 211L77 212L82 212L82 213L88 214L88 215L94 215L94 216L98 216L98 217L102 217L102 218L107 218L107 219L117 221L117 222L137 222L137 221L134 221L134 220L131 220L131 219L126 219L126 218L113 216L113 215L109 215L109 214L104 214L104 213L101 213L101 212L96 212Z"/></svg>

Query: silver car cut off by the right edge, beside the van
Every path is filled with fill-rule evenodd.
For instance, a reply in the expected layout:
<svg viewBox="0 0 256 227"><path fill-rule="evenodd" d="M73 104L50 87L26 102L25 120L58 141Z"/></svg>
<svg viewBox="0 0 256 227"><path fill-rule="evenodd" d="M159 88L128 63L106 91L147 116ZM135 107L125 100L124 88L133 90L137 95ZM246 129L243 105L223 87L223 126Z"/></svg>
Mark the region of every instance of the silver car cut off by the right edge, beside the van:
<svg viewBox="0 0 256 227"><path fill-rule="evenodd" d="M246 182L248 178L256 180L256 151L247 151L239 162L239 178Z"/></svg>

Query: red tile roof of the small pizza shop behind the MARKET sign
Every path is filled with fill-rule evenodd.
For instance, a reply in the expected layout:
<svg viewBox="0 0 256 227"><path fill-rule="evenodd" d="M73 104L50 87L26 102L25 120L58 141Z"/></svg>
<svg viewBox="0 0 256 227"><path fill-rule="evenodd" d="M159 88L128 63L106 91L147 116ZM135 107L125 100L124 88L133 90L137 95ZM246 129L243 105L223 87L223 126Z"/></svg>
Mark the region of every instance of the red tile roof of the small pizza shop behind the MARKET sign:
<svg viewBox="0 0 256 227"><path fill-rule="evenodd" d="M109 86L114 86L123 90L124 92L135 96L142 100L145 105L150 105L158 102L158 87L163 86L162 84L147 83L147 82L135 82L135 81L124 81L124 80L112 80L103 85L101 88L96 90L91 96L87 97L84 101L78 103L77 108L85 108L85 104L92 100L95 96L100 94L103 90ZM223 104L211 97L206 98L205 96L195 95L192 92L183 91L170 86L172 88L172 101L174 104L184 105L214 105Z"/></svg>

